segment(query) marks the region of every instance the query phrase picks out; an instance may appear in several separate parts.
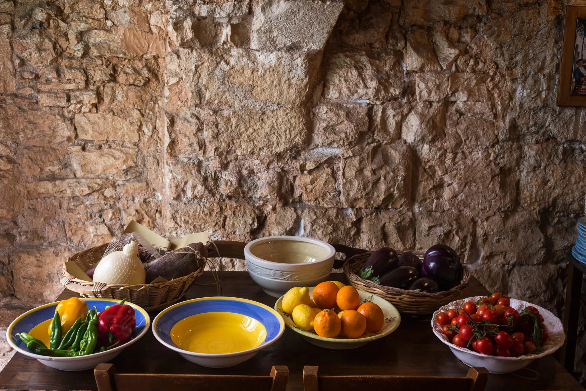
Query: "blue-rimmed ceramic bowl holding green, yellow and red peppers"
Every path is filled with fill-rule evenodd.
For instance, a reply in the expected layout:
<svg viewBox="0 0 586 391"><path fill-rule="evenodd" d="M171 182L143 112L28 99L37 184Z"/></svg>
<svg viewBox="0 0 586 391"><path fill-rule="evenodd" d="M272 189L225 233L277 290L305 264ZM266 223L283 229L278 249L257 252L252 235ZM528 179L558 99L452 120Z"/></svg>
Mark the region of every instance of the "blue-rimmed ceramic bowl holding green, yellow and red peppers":
<svg viewBox="0 0 586 391"><path fill-rule="evenodd" d="M87 302L89 308L96 307L98 312L105 310L108 305L119 304L120 300L112 300L106 298L81 298ZM116 348L110 349L109 351L93 353L87 356L79 357L47 357L31 353L23 344L20 338L16 336L19 332L30 332L30 330L39 325L47 319L52 319L55 313L55 307L57 307L59 301L52 302L49 304L41 305L40 307L33 308L28 312L25 312L9 325L6 331L6 339L8 344L16 351L22 353L25 356L36 358L43 364L60 370L84 370L96 367L96 365L104 362L108 362L130 344L138 341L148 330L151 324L151 318L149 318L147 311L143 310L138 305L130 302L125 304L131 305L134 308L135 317L137 318L137 327L132 332L132 339L126 342L124 345L117 346Z"/></svg>

